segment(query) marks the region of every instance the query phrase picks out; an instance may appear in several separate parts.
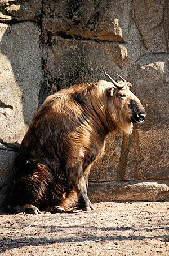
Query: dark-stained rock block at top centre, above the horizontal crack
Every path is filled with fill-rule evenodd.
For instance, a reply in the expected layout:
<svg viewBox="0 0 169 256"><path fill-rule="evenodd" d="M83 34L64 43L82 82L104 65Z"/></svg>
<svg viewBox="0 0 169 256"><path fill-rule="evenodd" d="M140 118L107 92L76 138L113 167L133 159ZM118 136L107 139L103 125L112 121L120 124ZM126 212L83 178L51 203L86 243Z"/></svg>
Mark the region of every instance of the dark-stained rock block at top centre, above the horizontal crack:
<svg viewBox="0 0 169 256"><path fill-rule="evenodd" d="M63 37L125 42L131 4L124 1L44 1L46 32Z"/></svg>

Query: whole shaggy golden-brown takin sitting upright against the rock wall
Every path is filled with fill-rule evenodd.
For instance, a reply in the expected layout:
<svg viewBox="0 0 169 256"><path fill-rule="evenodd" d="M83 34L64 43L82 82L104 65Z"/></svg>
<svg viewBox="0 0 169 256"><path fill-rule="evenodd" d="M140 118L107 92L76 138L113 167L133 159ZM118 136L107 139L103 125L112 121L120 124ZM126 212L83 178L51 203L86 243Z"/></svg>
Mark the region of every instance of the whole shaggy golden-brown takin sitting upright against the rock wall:
<svg viewBox="0 0 169 256"><path fill-rule="evenodd" d="M20 145L6 212L94 209L88 176L104 152L106 136L117 130L131 134L133 123L145 118L131 84L109 78L111 82L77 84L47 97Z"/></svg>

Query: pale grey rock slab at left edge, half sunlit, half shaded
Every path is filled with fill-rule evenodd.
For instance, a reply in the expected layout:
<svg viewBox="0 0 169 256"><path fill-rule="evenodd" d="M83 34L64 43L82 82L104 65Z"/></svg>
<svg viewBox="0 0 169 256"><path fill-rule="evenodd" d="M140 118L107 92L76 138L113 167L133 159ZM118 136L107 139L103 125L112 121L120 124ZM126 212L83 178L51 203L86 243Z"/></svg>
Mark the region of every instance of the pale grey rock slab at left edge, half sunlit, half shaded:
<svg viewBox="0 0 169 256"><path fill-rule="evenodd" d="M42 84L39 29L0 24L0 140L21 142L38 109Z"/></svg>

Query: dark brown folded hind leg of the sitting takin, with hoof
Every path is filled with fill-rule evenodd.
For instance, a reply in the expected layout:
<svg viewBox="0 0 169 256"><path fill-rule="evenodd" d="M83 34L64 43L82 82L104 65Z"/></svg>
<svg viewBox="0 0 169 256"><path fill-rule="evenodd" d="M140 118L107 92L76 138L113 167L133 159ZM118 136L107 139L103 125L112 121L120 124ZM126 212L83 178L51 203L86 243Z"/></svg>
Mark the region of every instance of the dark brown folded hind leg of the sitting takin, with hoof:
<svg viewBox="0 0 169 256"><path fill-rule="evenodd" d="M6 194L5 211L41 214L39 208L41 209L41 205L46 202L51 181L51 173L45 165L30 164L26 173L22 173L22 170L18 169L10 191Z"/></svg>

